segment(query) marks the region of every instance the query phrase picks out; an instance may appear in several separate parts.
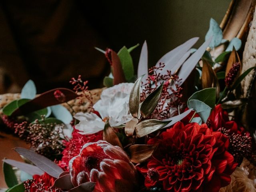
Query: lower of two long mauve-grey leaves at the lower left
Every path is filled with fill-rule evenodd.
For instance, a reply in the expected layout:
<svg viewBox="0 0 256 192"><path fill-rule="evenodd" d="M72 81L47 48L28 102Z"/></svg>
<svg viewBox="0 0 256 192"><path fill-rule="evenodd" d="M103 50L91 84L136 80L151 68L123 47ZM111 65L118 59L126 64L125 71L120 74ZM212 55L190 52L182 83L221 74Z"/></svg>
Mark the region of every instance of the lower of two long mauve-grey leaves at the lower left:
<svg viewBox="0 0 256 192"><path fill-rule="evenodd" d="M11 166L17 167L18 169L20 169L30 175L44 174L44 172L40 168L38 168L37 166L31 165L31 164L28 164L28 163L19 162L19 161L12 160L12 159L4 159L2 161Z"/></svg>

